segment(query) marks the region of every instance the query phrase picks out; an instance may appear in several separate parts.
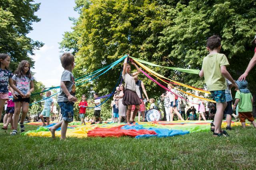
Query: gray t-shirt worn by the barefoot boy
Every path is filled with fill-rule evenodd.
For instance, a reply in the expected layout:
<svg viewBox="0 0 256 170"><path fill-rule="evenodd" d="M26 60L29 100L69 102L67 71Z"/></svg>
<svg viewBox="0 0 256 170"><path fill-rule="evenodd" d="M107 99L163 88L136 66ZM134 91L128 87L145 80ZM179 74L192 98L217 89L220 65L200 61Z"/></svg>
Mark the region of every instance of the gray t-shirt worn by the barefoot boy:
<svg viewBox="0 0 256 170"><path fill-rule="evenodd" d="M62 72L60 81L66 82L65 83L66 88L68 89L68 91L70 92L70 94L72 96L76 95L75 79L74 79L72 72L70 72L68 70L64 70L64 72ZM62 88L60 88L60 93L58 95L57 102L68 102L68 96L66 96L66 94L63 92Z"/></svg>

